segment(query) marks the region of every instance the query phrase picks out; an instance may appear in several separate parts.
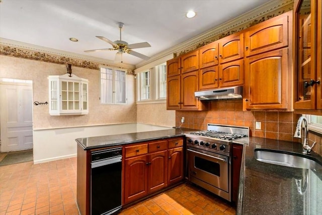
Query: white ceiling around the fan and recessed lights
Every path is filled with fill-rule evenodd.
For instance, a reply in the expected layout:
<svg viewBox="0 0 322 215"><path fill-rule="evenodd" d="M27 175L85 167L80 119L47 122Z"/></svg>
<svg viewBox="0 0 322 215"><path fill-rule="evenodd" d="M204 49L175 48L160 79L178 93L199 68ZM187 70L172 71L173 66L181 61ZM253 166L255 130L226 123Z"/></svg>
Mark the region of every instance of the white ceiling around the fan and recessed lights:
<svg viewBox="0 0 322 215"><path fill-rule="evenodd" d="M134 50L153 56L268 1L0 0L0 37L113 61L116 51L84 51L112 48L95 36L119 40L117 23L123 22L122 40L129 44L147 41L151 47ZM189 10L196 11L195 18L185 17ZM70 37L79 41L71 42ZM125 63L141 61L123 54Z"/></svg>

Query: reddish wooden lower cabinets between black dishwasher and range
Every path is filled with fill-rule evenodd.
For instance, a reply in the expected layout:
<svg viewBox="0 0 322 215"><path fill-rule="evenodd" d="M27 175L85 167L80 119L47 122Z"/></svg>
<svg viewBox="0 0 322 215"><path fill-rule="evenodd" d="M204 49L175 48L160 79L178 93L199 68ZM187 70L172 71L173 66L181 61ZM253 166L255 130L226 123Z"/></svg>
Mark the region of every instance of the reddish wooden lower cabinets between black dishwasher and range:
<svg viewBox="0 0 322 215"><path fill-rule="evenodd" d="M124 147L124 204L183 180L183 137ZM135 156L133 152L145 153Z"/></svg>

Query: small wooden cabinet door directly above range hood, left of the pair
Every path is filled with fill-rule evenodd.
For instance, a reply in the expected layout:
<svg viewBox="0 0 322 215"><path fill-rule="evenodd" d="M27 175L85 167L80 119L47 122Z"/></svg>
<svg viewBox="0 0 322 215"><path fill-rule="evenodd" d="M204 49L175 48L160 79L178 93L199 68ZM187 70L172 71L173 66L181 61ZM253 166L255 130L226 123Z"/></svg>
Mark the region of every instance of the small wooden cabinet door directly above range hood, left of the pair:
<svg viewBox="0 0 322 215"><path fill-rule="evenodd" d="M218 87L218 66L199 69L199 90Z"/></svg>

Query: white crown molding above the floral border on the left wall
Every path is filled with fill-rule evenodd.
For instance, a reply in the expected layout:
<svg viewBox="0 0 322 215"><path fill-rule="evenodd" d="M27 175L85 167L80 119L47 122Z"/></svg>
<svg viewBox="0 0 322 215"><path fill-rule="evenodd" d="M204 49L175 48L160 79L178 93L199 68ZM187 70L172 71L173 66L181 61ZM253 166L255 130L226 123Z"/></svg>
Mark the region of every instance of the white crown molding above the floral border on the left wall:
<svg viewBox="0 0 322 215"><path fill-rule="evenodd" d="M128 63L114 63L113 61L106 60L103 58L98 58L98 57L91 57L83 54L77 54L73 52L68 52L68 51L62 51L58 49L53 49L53 48L47 48L43 46L38 46L38 45L33 45L30 43L24 43L16 40L10 40L6 38L0 38L0 45L1 46L10 46L10 47L15 47L19 49L26 49L30 51L35 51L35 52L43 52L51 55L58 55L58 56L64 56L64 57L70 57L70 58L75 58L78 60L85 60L85 61L91 61L91 62L96 62L98 64L108 64L113 67L121 67L121 68L126 68L126 69L134 69L135 65L128 64Z"/></svg>

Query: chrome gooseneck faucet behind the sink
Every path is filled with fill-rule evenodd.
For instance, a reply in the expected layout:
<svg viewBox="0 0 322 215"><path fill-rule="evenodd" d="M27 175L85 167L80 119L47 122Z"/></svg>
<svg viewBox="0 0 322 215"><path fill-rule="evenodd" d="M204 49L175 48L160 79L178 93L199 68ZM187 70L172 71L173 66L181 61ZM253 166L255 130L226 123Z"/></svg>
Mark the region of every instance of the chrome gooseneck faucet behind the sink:
<svg viewBox="0 0 322 215"><path fill-rule="evenodd" d="M304 127L302 127L303 122L304 122ZM310 152L313 149L316 142L313 142L313 145L311 147L308 145L308 139L307 139L308 127L307 127L307 119L305 116L301 116L298 119L297 125L296 125L296 130L294 133L294 137L296 137L296 138L302 137L301 129L304 131L303 138L302 138L303 154L310 154Z"/></svg>

